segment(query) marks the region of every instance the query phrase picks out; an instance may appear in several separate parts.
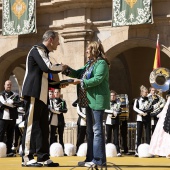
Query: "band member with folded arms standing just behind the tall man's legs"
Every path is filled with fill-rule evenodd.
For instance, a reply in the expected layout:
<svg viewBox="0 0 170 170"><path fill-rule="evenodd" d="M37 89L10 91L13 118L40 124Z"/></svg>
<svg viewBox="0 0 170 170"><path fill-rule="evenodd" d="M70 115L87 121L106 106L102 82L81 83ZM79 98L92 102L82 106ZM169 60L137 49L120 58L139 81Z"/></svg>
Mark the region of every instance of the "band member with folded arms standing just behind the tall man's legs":
<svg viewBox="0 0 170 170"><path fill-rule="evenodd" d="M64 127L65 127L65 120L64 120L64 115L63 113L67 113L67 105L65 100L61 98L61 90L60 89L55 89L54 90L54 109L56 111L59 111L58 116L58 138L59 138L59 143L63 147L64 151L64 141L63 141L63 134L64 134ZM67 156L66 153L64 153L64 156Z"/></svg>

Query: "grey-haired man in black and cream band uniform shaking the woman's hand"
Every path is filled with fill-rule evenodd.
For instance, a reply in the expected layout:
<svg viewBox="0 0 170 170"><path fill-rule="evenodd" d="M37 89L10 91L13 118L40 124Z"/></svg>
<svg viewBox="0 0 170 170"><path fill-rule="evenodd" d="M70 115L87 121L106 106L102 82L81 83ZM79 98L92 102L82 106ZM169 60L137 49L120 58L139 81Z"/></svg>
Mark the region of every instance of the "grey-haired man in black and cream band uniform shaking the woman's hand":
<svg viewBox="0 0 170 170"><path fill-rule="evenodd" d="M57 49L59 36L48 30L43 35L43 42L35 45L28 53L26 71L22 87L25 102L25 128L22 138L22 166L57 167L49 158L49 121L48 121L48 73L59 73L66 69L62 64L51 64L49 52ZM59 84L58 84L59 86ZM61 85L60 85L61 86ZM34 154L37 155L37 161Z"/></svg>

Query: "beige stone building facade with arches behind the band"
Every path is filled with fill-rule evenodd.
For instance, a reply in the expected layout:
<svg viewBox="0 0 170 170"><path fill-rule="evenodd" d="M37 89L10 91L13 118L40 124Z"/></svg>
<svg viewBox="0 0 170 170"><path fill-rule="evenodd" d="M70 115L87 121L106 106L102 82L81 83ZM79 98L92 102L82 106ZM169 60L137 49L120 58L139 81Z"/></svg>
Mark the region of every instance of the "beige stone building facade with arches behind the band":
<svg viewBox="0 0 170 170"><path fill-rule="evenodd" d="M129 121L135 121L133 99L140 95L140 85L150 86L157 34L161 65L170 68L170 1L153 0L153 24L125 27L111 27L112 0L37 0L36 3L36 34L2 36L0 22L0 89L14 75L21 91L27 53L31 46L41 42L46 30L53 29L60 35L60 46L51 53L51 61L76 69L86 62L87 42L99 39L111 62L110 89L128 94ZM0 11L2 21L2 1ZM66 78L62 74L55 76L60 80ZM62 94L69 109L66 121L76 121L76 110L71 105L76 100L76 87L70 85L62 89Z"/></svg>

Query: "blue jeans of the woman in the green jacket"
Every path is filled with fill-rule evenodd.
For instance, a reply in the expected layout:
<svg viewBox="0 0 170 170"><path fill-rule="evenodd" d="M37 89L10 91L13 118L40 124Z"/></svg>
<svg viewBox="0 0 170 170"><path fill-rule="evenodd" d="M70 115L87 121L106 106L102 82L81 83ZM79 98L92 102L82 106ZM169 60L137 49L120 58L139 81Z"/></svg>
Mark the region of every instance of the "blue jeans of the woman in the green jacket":
<svg viewBox="0 0 170 170"><path fill-rule="evenodd" d="M105 137L103 130L104 110L87 108L87 155L85 162L106 165Z"/></svg>

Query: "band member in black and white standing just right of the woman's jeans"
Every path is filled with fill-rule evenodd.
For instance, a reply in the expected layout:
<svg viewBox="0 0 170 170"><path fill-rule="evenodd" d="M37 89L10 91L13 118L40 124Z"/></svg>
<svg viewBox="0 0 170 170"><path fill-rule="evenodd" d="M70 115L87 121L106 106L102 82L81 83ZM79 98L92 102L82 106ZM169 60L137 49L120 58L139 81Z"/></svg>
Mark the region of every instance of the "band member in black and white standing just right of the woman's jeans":
<svg viewBox="0 0 170 170"><path fill-rule="evenodd" d="M119 115L121 114L121 102L116 98L117 93L110 91L110 110L105 110L108 114L106 118L106 143L112 143L112 130L114 134L113 144L117 149L117 156L122 156L119 147Z"/></svg>

